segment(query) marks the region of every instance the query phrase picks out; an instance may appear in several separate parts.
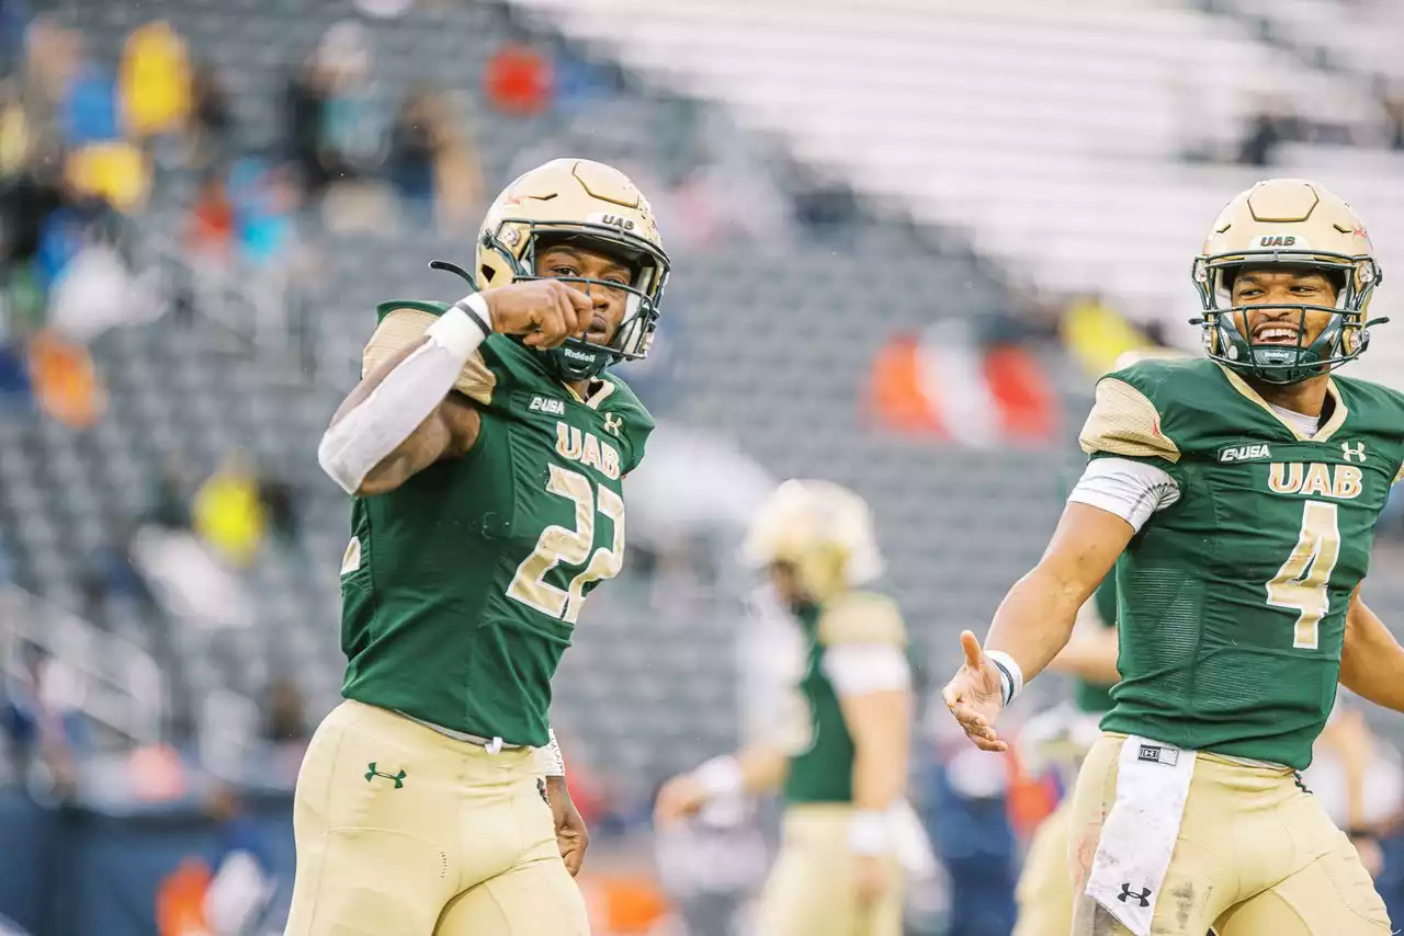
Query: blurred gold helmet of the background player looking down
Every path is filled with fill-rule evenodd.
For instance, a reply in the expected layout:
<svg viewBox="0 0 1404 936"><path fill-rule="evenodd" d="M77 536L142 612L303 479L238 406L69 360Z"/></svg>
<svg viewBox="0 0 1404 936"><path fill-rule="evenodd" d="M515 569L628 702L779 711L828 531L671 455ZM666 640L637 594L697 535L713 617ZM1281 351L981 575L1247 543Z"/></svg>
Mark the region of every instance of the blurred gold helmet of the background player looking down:
<svg viewBox="0 0 1404 936"><path fill-rule="evenodd" d="M833 481L790 480L761 502L746 535L751 566L783 563L804 595L827 601L882 574L872 511Z"/></svg>

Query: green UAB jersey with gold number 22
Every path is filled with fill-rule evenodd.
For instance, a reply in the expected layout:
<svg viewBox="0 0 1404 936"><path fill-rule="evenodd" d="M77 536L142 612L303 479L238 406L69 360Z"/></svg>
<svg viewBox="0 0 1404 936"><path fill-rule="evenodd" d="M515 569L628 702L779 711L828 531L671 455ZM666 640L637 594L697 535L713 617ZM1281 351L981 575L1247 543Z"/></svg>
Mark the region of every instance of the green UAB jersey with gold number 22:
<svg viewBox="0 0 1404 936"><path fill-rule="evenodd" d="M366 370L446 307L379 306ZM482 344L455 392L482 413L473 448L352 501L343 695L539 747L581 605L619 573L621 480L643 457L653 420L618 377L604 375L581 400L503 335Z"/></svg>

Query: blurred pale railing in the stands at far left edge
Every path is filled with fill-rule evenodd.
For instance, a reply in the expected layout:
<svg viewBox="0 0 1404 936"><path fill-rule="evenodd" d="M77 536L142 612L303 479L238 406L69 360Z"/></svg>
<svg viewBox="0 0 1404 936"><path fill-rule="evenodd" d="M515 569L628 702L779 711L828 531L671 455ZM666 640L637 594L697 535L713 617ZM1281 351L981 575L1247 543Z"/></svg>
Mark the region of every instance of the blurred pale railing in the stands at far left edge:
<svg viewBox="0 0 1404 936"><path fill-rule="evenodd" d="M21 641L81 681L79 709L90 718L133 744L161 741L166 679L150 654L37 595L0 588L0 661L14 678L22 676Z"/></svg>

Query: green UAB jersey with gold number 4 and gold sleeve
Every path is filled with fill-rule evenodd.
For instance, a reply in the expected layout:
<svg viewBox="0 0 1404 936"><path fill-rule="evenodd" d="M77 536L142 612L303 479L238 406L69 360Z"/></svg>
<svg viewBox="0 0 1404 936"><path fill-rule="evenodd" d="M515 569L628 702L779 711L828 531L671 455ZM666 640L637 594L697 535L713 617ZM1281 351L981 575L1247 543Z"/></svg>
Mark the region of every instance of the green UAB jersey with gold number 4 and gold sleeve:
<svg viewBox="0 0 1404 936"><path fill-rule="evenodd" d="M1179 487L1116 563L1122 681L1102 727L1306 768L1404 459L1404 396L1332 377L1304 436L1212 361L1147 361L1102 379L1081 442Z"/></svg>

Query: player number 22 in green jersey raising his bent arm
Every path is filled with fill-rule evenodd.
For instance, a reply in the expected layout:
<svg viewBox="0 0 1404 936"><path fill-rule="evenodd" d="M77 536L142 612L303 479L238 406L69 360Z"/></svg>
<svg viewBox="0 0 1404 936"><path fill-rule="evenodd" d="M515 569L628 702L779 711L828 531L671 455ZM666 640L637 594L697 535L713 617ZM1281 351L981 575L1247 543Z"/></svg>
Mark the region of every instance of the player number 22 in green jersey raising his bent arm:
<svg viewBox="0 0 1404 936"><path fill-rule="evenodd" d="M623 560L668 275L622 173L556 160L491 205L453 303L388 302L319 448L355 500L345 702L298 777L286 933L569 936L585 831L548 728L585 596Z"/></svg>

